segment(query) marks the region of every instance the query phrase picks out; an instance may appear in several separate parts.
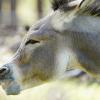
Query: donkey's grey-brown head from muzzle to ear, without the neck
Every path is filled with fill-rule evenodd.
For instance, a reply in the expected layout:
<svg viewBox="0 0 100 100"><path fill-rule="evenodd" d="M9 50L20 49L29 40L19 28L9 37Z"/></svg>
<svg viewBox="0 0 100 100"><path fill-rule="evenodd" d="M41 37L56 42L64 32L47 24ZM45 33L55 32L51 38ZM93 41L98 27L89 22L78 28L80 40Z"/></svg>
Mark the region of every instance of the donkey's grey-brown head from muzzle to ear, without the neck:
<svg viewBox="0 0 100 100"><path fill-rule="evenodd" d="M79 16L94 1L54 0L54 11L30 28L12 60L0 68L0 82L7 94L18 94L25 88L60 78L68 66L79 65L70 32L85 31L83 26L77 29L81 24L76 23L81 22Z"/></svg>

